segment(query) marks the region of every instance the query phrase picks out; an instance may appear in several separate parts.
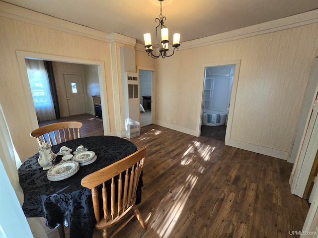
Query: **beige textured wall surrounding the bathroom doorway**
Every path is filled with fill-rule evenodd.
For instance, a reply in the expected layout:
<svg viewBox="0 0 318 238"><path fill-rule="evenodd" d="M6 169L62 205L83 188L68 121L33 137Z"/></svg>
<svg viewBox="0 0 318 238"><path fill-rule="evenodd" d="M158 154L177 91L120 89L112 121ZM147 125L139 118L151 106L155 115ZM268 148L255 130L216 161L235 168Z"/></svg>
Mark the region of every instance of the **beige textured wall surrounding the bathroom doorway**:
<svg viewBox="0 0 318 238"><path fill-rule="evenodd" d="M202 108L202 65L241 60L236 99L231 99L230 141L288 154L317 48L314 23L180 50L158 60L157 122L195 130Z"/></svg>

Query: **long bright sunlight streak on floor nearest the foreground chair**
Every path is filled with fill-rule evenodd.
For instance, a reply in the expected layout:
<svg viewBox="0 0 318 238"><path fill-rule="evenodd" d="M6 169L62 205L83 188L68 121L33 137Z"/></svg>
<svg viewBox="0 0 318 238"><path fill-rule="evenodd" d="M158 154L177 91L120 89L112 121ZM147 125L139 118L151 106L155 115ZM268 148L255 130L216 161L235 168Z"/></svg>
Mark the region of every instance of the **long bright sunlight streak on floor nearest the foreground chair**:
<svg viewBox="0 0 318 238"><path fill-rule="evenodd" d="M189 175L184 181L184 185L170 189L169 193L160 201L151 225L160 238L170 237L197 180L197 176Z"/></svg>

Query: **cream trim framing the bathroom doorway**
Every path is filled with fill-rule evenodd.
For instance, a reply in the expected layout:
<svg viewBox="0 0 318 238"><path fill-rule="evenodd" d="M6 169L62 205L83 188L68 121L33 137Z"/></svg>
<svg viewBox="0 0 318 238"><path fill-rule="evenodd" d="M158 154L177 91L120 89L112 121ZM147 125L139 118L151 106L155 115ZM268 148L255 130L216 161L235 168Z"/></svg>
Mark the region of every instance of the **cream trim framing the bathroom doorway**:
<svg viewBox="0 0 318 238"><path fill-rule="evenodd" d="M231 103L230 103L230 109L229 109L229 115L228 115L227 130L226 130L226 134L225 134L225 144L226 145L230 144L233 112L234 112L235 100L236 100L236 96L237 96L237 89L238 89L238 83L239 83L240 61L241 60L227 60L227 61L218 61L218 62L201 64L201 70L200 70L201 76L200 76L200 78L202 78L202 80L203 80L203 84L202 84L203 86L202 86L202 94L201 94L201 107L200 107L199 115L197 118L197 136L200 136L200 134L201 134L205 68L206 67L215 67L215 66L224 66L224 65L235 64L234 74L233 74L232 92L231 92L231 99L230 99Z"/></svg>

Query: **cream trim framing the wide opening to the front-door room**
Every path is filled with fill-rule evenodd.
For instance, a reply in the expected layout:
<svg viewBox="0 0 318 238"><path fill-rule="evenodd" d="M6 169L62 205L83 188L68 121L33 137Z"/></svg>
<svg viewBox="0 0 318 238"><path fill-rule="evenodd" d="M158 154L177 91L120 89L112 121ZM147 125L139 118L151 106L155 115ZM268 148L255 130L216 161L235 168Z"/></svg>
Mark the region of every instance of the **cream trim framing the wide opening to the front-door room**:
<svg viewBox="0 0 318 238"><path fill-rule="evenodd" d="M31 118L32 127L34 129L39 127L39 123L36 118L35 108L33 104L30 84L29 84L29 78L28 78L27 70L26 70L25 58L35 59L35 60L49 60L49 61L66 62L66 63L96 65L98 70L100 98L101 98L101 101L103 102L102 114L103 114L104 135L107 135L110 132L107 91L106 91L106 76L105 76L105 67L104 67L103 61L85 60L85 59L79 59L79 58L55 56L55 55L40 54L40 53L25 52L25 51L16 51L16 57L18 60L19 68L20 68L22 83L24 86L25 97L26 97L26 101L28 105L28 112Z"/></svg>

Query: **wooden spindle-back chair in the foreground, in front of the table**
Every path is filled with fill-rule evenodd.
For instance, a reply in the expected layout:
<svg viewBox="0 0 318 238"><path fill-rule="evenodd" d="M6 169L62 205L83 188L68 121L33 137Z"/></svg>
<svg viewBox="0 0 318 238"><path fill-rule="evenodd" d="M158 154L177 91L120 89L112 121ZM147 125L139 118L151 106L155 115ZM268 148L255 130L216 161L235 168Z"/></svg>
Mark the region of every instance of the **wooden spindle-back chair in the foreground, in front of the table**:
<svg viewBox="0 0 318 238"><path fill-rule="evenodd" d="M119 228L111 234L111 237L118 233L134 216L137 217L141 226L144 229L147 229L146 224L135 205L137 184L144 166L146 154L147 147L144 147L126 158L95 171L81 179L81 185L91 189L96 218L95 228L103 230L103 238L108 237L107 228L122 221L130 211L133 211L133 214L125 220L125 222L119 224L120 226L118 225ZM111 179L110 187L106 186L106 181L109 179ZM116 189L118 190L117 194L115 194L115 183L118 183L118 189ZM102 214L100 214L99 210L99 196L97 191L97 186L101 186L101 184L102 192L99 196L101 196L102 199ZM110 204L110 208L108 207L109 205L107 205L107 194L108 197L110 197L110 203L108 203Z"/></svg>

